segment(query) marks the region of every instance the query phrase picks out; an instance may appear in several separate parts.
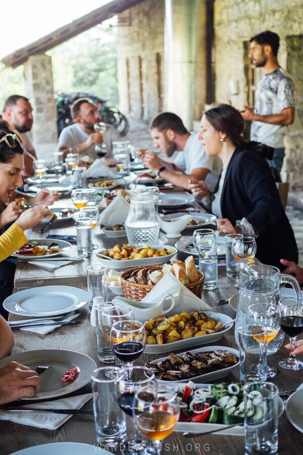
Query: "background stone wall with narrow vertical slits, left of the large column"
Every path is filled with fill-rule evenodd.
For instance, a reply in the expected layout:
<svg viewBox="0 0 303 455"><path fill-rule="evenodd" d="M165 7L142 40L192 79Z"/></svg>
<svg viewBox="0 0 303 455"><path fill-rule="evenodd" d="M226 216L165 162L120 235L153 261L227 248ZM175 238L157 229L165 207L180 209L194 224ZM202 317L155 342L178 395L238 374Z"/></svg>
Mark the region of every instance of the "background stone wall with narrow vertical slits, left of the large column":
<svg viewBox="0 0 303 455"><path fill-rule="evenodd" d="M146 0L120 14L117 35L120 109L149 121L162 108L164 0Z"/></svg>

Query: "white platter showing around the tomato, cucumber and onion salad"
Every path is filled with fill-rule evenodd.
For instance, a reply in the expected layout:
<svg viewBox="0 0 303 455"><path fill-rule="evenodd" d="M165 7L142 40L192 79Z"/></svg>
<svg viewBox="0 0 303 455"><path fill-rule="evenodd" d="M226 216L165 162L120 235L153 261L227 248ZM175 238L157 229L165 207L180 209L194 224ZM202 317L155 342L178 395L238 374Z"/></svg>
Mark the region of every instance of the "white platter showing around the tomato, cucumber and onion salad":
<svg viewBox="0 0 303 455"><path fill-rule="evenodd" d="M217 386L217 385L220 386L220 385L223 385L223 384L225 384L225 383L220 383L220 384L194 384L194 387L195 387L195 390L197 391L196 392L197 396L199 396L199 390L205 389L207 391L208 389L210 390L214 386ZM238 383L234 383L234 384L238 384ZM190 386L190 383L188 385ZM174 390L176 391L176 393L178 392L178 395L179 395L180 391L183 390L183 393L185 392L186 387L188 387L188 385L184 384L184 383L176 383L176 384L169 384L169 387L173 387ZM217 389L217 390L220 390L220 389ZM232 399L233 395L232 394L228 394L228 396L229 396L228 399ZM223 405L224 405L224 403L223 403ZM228 403L227 403L227 405L228 405ZM283 400L282 400L282 398L278 397L278 417L280 417L283 414L283 411L284 411ZM236 427L233 427L233 428L225 429L226 426L227 426L226 424L224 425L223 423L216 422L216 419L214 419L213 416L211 418L211 416L212 416L212 412L210 410L209 416L207 418L208 422L203 421L204 419L201 419L201 422L194 422L194 421L191 421L191 422L178 422L174 431L181 431L181 432L186 431L188 433L198 433L198 434L200 434L200 433L203 433L203 432L215 431L215 430L219 430L220 428L222 428L222 431L220 431L220 434L228 434L228 435L232 435L232 436L244 436L244 427L243 426L239 425L239 426L236 426ZM197 420L199 420L199 419L197 419ZM209 420L213 420L215 422L211 423ZM217 420L220 420L220 419L217 419Z"/></svg>

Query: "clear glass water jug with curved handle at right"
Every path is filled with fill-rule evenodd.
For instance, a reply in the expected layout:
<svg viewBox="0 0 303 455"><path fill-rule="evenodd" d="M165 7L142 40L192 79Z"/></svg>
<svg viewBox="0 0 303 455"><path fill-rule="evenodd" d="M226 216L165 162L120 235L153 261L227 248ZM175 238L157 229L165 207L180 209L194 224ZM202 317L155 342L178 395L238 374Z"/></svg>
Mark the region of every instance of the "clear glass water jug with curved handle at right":
<svg viewBox="0 0 303 455"><path fill-rule="evenodd" d="M254 303L277 304L280 300L280 287L284 283L290 284L294 289L295 295L298 297L300 297L301 291L299 284L294 277L281 274L277 267L262 264L257 259L243 258L237 262L236 267L240 271L235 321L235 339L238 343L238 328L241 325L246 324L246 312L249 305ZM282 340L282 333L279 338L277 337L268 343L269 350L273 348L271 344L276 344L279 341L279 338ZM281 341L281 344L282 342L283 340Z"/></svg>

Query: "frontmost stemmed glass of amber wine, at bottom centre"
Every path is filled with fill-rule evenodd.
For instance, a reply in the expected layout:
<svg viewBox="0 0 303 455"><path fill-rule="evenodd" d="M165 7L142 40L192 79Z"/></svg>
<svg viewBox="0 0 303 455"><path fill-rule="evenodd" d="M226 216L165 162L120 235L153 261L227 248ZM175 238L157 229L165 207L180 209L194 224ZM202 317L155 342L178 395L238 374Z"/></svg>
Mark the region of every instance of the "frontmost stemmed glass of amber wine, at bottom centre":
<svg viewBox="0 0 303 455"><path fill-rule="evenodd" d="M133 415L141 433L153 441L157 455L161 454L161 441L177 425L179 414L179 400L172 388L149 384L136 391Z"/></svg>

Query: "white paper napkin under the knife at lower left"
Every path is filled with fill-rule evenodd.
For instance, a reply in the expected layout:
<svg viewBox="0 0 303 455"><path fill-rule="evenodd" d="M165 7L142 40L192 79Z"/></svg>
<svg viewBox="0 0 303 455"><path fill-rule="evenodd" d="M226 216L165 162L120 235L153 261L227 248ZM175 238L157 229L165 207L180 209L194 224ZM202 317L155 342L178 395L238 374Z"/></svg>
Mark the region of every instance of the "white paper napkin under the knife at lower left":
<svg viewBox="0 0 303 455"><path fill-rule="evenodd" d="M54 401L43 401L41 403L25 404L25 407L33 409L80 409L92 397L92 393L85 395L71 396ZM0 420L10 420L21 425L31 427L46 428L47 430L57 430L70 419L70 414L46 414L46 413L26 413L0 411Z"/></svg>

